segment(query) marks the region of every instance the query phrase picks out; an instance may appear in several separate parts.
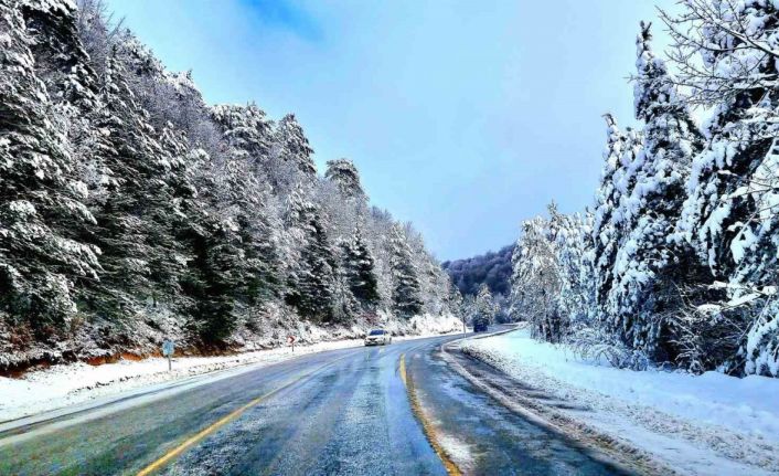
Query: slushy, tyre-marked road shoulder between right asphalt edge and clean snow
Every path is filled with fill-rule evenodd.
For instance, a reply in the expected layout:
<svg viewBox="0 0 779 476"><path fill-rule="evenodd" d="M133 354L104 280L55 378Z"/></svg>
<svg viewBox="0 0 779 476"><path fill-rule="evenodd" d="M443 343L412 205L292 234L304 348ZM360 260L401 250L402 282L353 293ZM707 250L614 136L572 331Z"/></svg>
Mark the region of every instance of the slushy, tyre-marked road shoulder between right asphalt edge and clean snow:
<svg viewBox="0 0 779 476"><path fill-rule="evenodd" d="M445 358L452 369L512 411L565 432L641 473L768 475L779 467L777 447L761 437L675 417L640 404L639 395L621 401L584 390L551 374L552 369L520 368L521 362L495 357L495 347L490 341L466 341L465 346L458 341L445 347Z"/></svg>

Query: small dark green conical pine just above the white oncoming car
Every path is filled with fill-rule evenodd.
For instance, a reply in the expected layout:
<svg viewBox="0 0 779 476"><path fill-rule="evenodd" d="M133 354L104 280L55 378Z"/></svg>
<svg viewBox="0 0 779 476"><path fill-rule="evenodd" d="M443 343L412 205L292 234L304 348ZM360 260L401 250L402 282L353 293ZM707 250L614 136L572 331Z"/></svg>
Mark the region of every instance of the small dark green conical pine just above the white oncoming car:
<svg viewBox="0 0 779 476"><path fill-rule="evenodd" d="M342 269L349 288L360 303L374 309L378 305L378 282L374 258L362 233L362 226L354 226L352 239L341 242Z"/></svg>

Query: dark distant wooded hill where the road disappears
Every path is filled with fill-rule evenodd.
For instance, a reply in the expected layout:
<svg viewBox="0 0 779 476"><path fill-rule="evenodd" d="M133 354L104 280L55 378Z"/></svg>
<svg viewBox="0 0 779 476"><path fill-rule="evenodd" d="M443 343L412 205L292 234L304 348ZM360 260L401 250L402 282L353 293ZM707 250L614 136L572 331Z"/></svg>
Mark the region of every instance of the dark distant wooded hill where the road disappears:
<svg viewBox="0 0 779 476"><path fill-rule="evenodd" d="M492 294L508 295L513 252L512 244L497 253L490 251L466 260L447 261L442 266L463 295L474 296L482 283L487 283Z"/></svg>

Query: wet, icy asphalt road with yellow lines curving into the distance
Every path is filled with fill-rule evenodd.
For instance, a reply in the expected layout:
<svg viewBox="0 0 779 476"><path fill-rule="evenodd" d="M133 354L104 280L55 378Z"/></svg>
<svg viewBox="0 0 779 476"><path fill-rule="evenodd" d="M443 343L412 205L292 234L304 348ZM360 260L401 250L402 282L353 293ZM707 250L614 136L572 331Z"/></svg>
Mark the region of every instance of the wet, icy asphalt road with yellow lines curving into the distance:
<svg viewBox="0 0 779 476"><path fill-rule="evenodd" d="M0 475L623 474L452 371L440 347L456 338L307 355L0 433Z"/></svg>

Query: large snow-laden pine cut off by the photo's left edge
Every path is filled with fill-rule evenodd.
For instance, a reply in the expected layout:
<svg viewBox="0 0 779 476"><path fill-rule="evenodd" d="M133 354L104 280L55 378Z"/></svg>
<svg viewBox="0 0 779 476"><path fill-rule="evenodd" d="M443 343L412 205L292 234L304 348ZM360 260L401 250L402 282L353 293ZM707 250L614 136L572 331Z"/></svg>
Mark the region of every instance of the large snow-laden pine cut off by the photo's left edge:
<svg viewBox="0 0 779 476"><path fill-rule="evenodd" d="M76 240L95 219L47 118L51 103L18 7L0 3L0 309L50 332L76 311L74 281L97 278L99 251Z"/></svg>

